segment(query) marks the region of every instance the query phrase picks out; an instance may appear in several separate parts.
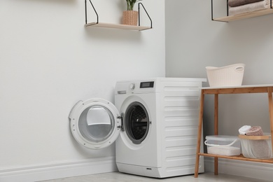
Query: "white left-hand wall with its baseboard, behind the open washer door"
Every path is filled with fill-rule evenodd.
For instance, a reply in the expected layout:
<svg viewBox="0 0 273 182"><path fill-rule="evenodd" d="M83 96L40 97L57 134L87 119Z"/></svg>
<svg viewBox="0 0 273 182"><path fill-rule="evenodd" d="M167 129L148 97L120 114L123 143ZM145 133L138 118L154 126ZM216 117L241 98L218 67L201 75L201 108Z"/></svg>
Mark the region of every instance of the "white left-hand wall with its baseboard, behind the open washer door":
<svg viewBox="0 0 273 182"><path fill-rule="evenodd" d="M120 23L125 0L92 2L100 22ZM146 31L85 28L84 1L0 1L0 181L116 170L115 147L80 147L68 116L80 99L114 102L117 80L165 76L165 3L142 3Z"/></svg>

